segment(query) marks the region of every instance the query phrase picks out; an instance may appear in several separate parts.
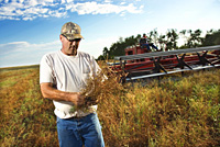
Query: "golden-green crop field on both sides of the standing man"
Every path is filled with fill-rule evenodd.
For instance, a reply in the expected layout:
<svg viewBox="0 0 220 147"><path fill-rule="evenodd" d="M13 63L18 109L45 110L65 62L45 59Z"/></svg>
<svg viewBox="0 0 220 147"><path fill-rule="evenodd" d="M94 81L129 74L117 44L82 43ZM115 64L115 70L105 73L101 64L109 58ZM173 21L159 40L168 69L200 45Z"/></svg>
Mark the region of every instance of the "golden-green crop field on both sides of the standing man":
<svg viewBox="0 0 220 147"><path fill-rule="evenodd" d="M58 146L54 105L43 99L38 75L38 66L0 69L1 147ZM220 146L220 69L177 77L110 81L98 108L106 146Z"/></svg>

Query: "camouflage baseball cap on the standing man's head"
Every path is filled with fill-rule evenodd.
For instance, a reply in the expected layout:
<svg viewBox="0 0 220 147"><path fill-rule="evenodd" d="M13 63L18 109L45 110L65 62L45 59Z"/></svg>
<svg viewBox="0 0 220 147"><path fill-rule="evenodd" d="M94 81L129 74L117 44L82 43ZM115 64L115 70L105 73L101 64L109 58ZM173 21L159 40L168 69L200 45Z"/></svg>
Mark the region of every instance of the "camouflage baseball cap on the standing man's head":
<svg viewBox="0 0 220 147"><path fill-rule="evenodd" d="M67 39L84 38L80 34L81 29L78 24L67 22L62 26L61 34L65 35Z"/></svg>

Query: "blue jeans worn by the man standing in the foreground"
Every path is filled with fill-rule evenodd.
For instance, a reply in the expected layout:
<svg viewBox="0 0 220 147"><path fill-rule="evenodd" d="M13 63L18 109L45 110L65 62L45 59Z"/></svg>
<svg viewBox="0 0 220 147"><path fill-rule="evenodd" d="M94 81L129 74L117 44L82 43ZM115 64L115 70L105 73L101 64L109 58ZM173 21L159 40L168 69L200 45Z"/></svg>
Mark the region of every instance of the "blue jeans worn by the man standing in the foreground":
<svg viewBox="0 0 220 147"><path fill-rule="evenodd" d="M105 147L98 116L91 113L81 118L57 117L59 147Z"/></svg>

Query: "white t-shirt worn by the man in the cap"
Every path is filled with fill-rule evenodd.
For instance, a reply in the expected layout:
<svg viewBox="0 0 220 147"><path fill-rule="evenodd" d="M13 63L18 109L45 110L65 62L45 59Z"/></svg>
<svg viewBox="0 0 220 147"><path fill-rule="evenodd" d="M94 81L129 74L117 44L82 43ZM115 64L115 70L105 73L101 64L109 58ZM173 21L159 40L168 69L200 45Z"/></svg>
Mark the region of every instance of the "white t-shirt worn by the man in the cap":
<svg viewBox="0 0 220 147"><path fill-rule="evenodd" d="M67 56L61 50L43 56L40 66L40 83L51 82L57 90L80 92L88 77L96 76L100 67L95 58L87 53L78 52L76 56ZM55 115L61 118L85 116L96 112L97 105L89 106L86 112L70 112L74 104L66 101L53 101Z"/></svg>

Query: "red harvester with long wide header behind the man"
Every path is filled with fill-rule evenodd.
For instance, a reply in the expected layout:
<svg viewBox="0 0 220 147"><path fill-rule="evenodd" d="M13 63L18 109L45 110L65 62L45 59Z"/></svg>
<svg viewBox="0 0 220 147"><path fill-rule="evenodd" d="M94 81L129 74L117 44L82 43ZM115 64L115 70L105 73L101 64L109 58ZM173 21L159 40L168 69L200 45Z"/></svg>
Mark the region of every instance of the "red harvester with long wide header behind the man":
<svg viewBox="0 0 220 147"><path fill-rule="evenodd" d="M125 48L125 56L114 57L108 65L117 72L125 72L123 81L220 67L220 45L151 53L131 46Z"/></svg>

